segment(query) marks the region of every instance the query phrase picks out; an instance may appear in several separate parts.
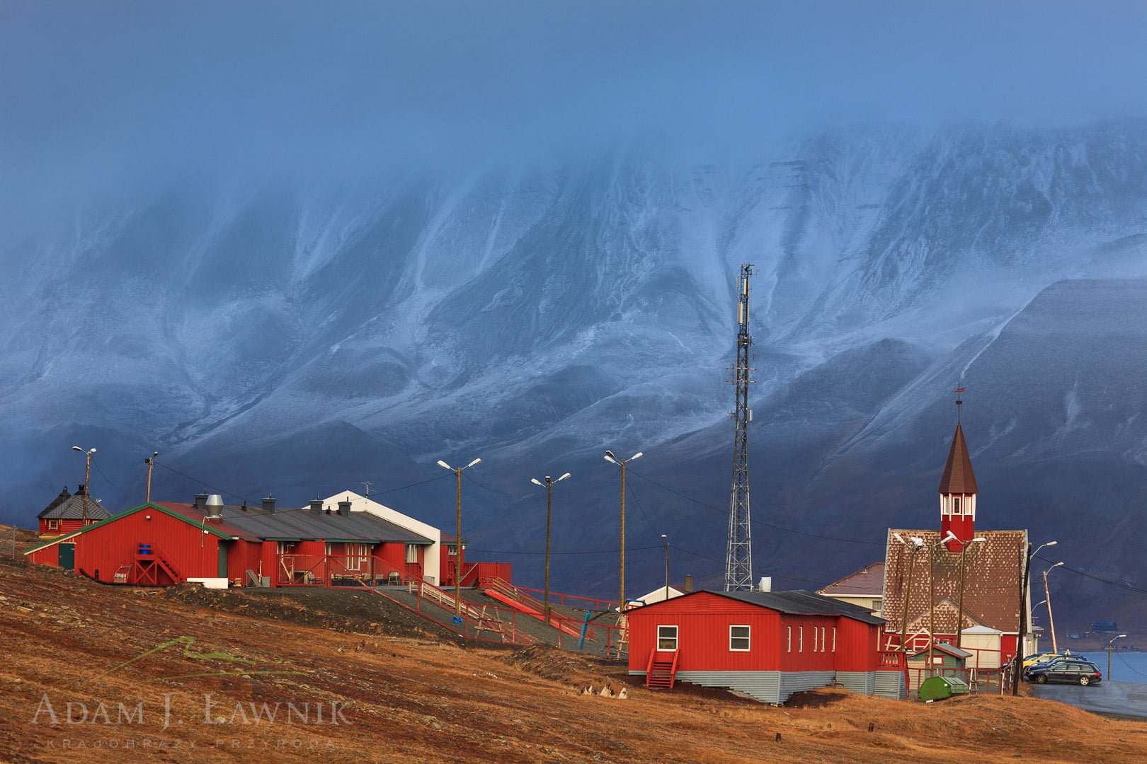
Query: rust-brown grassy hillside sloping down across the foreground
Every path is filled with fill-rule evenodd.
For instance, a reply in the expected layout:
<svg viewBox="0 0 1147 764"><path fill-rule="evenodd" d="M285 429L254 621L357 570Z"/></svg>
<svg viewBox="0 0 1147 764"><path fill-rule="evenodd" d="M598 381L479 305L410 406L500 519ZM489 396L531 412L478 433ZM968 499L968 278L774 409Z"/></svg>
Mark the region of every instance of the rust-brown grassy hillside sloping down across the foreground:
<svg viewBox="0 0 1147 764"><path fill-rule="evenodd" d="M0 598L5 762L1147 762L1147 724L1056 702L650 691L547 646L460 646L374 613L333 624L322 594L112 588L2 559ZM591 684L629 698L579 694Z"/></svg>

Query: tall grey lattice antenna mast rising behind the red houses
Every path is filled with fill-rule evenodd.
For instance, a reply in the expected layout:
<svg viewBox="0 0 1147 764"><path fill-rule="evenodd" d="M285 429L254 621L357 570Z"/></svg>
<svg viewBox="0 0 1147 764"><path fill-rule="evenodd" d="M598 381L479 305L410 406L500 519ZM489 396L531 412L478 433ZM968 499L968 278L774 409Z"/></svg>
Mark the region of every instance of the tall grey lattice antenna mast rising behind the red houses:
<svg viewBox="0 0 1147 764"><path fill-rule="evenodd" d="M741 265L736 300L736 367L733 379L736 387L736 436L733 440L733 490L728 503L728 546L725 552L725 591L752 589L752 531L749 519L749 276L751 265Z"/></svg>

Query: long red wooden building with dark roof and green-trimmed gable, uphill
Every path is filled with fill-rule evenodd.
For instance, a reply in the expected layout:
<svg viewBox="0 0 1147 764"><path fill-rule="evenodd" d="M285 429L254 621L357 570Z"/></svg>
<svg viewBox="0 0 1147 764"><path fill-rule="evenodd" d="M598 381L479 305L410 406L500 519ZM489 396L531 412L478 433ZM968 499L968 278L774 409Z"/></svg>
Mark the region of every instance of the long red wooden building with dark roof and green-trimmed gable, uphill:
<svg viewBox="0 0 1147 764"><path fill-rule="evenodd" d="M404 583L421 580L429 538L346 506L304 509L149 503L24 553L104 583L167 585L189 578L232 584Z"/></svg>

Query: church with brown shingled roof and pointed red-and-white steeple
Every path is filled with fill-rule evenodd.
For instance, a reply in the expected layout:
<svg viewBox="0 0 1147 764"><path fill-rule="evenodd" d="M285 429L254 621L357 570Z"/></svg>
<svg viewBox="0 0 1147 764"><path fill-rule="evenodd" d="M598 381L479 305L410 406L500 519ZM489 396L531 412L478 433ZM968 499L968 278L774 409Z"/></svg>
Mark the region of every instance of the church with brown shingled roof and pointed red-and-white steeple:
<svg viewBox="0 0 1147 764"><path fill-rule="evenodd" d="M905 646L912 654L930 643L934 651L945 645L969 654L967 668L998 669L1017 649L1021 655L1035 649L1030 641L1021 645L1020 635L1028 531L984 529L991 526L991 511L980 512L959 418L938 493L937 526L888 530L882 598L888 623L881 647ZM1030 596L1022 607L1030 613ZM929 657L942 660L935 652Z"/></svg>

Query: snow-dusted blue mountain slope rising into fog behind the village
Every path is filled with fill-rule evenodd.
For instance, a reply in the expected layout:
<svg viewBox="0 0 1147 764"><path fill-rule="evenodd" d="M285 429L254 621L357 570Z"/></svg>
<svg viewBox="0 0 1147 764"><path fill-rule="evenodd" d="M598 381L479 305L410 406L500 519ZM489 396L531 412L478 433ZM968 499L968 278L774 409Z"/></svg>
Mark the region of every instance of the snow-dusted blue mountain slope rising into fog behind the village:
<svg viewBox="0 0 1147 764"><path fill-rule="evenodd" d="M3 519L77 481L72 441L100 448L93 490L124 503L151 450L299 504L473 454L476 537L531 544L522 475L562 463L584 472L570 546L606 549L614 447L717 507L702 521L650 496L642 533L688 528L721 558L741 262L757 267L756 517L931 522L958 383L985 472L1144 464L1147 125L840 128L725 157L650 141L434 176L169 179L0 241ZM418 491L445 517L450 491ZM763 570L868 561L826 551L814 573L812 537L766 536Z"/></svg>

